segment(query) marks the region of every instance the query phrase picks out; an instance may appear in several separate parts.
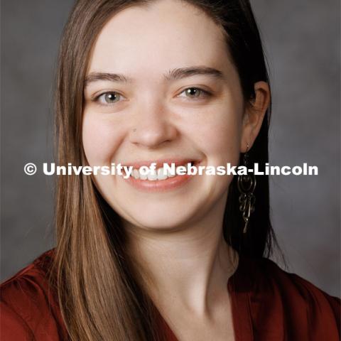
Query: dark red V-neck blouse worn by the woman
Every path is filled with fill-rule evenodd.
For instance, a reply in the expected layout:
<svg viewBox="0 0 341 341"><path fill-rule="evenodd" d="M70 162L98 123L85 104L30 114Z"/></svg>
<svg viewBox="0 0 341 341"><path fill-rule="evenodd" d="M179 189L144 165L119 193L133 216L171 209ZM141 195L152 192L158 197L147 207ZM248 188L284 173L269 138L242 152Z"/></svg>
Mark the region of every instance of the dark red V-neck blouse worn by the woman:
<svg viewBox="0 0 341 341"><path fill-rule="evenodd" d="M46 279L52 255L45 252L1 285L1 340L67 340L55 293ZM227 288L236 341L340 340L340 299L269 259L239 257ZM160 318L169 341L177 341Z"/></svg>

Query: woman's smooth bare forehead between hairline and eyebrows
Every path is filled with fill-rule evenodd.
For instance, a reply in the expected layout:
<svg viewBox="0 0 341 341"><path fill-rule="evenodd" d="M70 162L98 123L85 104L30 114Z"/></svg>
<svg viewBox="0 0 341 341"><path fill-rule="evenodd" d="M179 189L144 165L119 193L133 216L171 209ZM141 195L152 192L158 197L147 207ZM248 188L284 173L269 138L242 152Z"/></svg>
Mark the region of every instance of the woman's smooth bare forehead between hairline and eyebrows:
<svg viewBox="0 0 341 341"><path fill-rule="evenodd" d="M228 62L222 29L202 10L180 0L158 0L115 14L102 28L88 72L148 72Z"/></svg>

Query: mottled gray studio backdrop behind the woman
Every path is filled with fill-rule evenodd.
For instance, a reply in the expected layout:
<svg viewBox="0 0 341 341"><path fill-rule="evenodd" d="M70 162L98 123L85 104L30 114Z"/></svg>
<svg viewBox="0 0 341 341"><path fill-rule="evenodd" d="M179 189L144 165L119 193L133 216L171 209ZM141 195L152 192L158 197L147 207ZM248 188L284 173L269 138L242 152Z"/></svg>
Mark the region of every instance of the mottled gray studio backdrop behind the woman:
<svg viewBox="0 0 341 341"><path fill-rule="evenodd" d="M53 247L52 83L71 0L1 4L1 279ZM319 167L271 178L288 269L340 296L340 30L337 0L254 0L273 88L270 161Z"/></svg>

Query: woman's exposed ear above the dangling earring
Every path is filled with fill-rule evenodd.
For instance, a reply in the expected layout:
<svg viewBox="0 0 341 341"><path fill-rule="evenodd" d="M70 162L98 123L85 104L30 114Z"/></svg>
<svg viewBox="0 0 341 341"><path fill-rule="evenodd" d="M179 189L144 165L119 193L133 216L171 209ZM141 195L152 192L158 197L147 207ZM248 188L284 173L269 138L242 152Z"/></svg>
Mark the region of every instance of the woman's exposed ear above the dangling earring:
<svg viewBox="0 0 341 341"><path fill-rule="evenodd" d="M255 97L245 107L242 120L242 139L240 141L240 151L242 153L247 152L251 148L261 129L261 124L271 98L268 83L263 81L254 83L254 94Z"/></svg>

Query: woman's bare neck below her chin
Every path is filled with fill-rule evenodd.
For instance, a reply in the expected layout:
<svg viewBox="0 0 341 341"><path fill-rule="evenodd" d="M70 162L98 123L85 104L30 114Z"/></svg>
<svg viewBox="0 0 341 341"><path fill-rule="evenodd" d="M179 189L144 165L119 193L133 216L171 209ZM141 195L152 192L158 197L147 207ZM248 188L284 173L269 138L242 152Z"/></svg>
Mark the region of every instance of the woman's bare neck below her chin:
<svg viewBox="0 0 341 341"><path fill-rule="evenodd" d="M224 241L217 212L181 229L126 226L128 251L144 288L158 307L172 301L203 316L227 294L237 253Z"/></svg>

